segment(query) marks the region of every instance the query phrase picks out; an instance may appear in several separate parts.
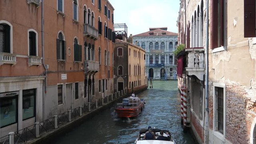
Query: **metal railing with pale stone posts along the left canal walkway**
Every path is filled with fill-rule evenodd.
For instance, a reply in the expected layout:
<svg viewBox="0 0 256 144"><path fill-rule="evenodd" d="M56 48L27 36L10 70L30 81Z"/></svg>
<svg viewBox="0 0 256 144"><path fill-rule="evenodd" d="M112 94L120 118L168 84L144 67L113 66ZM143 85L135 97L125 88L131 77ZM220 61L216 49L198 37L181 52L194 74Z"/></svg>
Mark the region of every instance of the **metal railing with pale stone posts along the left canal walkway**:
<svg viewBox="0 0 256 144"><path fill-rule="evenodd" d="M10 132L8 135L0 138L0 144L26 144L28 140L32 140L33 138L39 138L40 134L44 134L51 130L54 130L59 126L62 126L63 124L66 124L76 119L77 117L82 116L82 114L86 114L87 112L90 112L91 110L102 106L102 100L103 104L106 104L115 100L118 97L119 94L115 93L113 95L94 100L87 105L84 104L83 106L68 110L68 112L55 115L54 117L51 117L47 120L43 120L42 122L36 122L35 124L23 128L22 130Z"/></svg>

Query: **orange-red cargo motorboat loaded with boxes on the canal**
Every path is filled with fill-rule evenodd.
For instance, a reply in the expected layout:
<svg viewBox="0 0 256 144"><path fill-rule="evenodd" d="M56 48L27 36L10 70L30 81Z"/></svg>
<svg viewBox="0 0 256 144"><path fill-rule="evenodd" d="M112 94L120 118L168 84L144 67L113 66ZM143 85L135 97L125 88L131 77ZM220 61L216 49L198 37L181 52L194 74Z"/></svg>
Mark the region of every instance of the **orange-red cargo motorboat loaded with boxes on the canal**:
<svg viewBox="0 0 256 144"><path fill-rule="evenodd" d="M138 97L124 98L121 104L116 104L116 113L118 117L138 116L144 108L144 99Z"/></svg>

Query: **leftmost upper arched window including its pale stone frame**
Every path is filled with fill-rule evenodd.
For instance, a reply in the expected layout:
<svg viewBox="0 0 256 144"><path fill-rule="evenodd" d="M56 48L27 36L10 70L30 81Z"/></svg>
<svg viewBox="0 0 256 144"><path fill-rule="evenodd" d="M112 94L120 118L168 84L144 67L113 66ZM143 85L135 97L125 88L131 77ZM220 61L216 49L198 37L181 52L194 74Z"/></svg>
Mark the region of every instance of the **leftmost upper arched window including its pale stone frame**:
<svg viewBox="0 0 256 144"><path fill-rule="evenodd" d="M12 26L0 20L0 52L12 53Z"/></svg>

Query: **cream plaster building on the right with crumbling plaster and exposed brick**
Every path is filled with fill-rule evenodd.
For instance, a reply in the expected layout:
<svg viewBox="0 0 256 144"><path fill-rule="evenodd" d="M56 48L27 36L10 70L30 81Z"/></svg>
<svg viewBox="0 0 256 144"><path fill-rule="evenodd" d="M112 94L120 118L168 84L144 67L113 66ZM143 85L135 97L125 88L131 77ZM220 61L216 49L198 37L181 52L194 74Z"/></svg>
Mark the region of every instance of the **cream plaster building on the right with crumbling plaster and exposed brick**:
<svg viewBox="0 0 256 144"><path fill-rule="evenodd" d="M187 126L200 144L255 144L255 1L180 2L178 42L186 49L177 56L178 87L187 91Z"/></svg>

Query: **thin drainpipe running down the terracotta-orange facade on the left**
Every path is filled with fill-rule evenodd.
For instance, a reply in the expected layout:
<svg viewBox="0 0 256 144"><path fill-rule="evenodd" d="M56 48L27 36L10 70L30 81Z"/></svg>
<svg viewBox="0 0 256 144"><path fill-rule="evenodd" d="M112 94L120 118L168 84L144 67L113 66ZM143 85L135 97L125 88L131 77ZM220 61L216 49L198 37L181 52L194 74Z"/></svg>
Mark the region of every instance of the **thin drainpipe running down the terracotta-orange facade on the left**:
<svg viewBox="0 0 256 144"><path fill-rule="evenodd" d="M47 68L44 64L44 0L42 0L42 64L44 66L44 92L42 94L43 96L43 120L44 120L44 96L46 96L46 87L47 87Z"/></svg>

